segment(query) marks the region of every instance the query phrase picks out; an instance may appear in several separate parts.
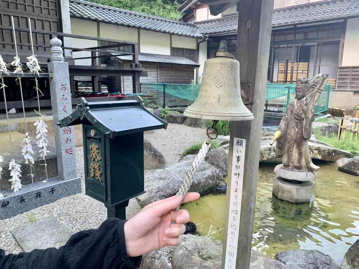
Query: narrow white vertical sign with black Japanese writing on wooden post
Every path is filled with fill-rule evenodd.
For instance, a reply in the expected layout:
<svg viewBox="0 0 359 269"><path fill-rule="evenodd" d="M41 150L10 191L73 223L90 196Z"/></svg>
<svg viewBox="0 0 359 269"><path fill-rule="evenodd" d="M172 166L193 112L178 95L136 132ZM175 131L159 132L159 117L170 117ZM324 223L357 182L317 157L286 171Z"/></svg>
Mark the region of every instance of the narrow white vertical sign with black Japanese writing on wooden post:
<svg viewBox="0 0 359 269"><path fill-rule="evenodd" d="M236 268L245 151L246 140L234 137L225 269Z"/></svg>

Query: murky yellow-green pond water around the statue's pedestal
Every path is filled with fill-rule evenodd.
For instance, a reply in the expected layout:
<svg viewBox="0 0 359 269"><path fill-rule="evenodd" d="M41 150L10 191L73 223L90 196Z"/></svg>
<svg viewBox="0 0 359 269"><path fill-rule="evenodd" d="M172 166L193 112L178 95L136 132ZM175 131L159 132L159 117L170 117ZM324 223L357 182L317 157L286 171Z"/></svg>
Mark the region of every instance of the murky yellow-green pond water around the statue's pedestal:
<svg viewBox="0 0 359 269"><path fill-rule="evenodd" d="M274 257L284 250L319 250L341 263L359 239L359 177L326 162L317 171L313 205L292 204L272 195L275 164L260 164L252 249ZM225 195L204 195L188 203L200 235L223 240Z"/></svg>

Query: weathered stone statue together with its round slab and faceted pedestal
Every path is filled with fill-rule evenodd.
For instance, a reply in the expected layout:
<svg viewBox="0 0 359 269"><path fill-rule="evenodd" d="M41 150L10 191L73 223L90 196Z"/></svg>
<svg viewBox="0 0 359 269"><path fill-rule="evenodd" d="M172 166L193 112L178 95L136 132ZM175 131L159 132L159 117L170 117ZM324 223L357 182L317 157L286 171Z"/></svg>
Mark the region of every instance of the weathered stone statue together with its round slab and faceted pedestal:
<svg viewBox="0 0 359 269"><path fill-rule="evenodd" d="M322 93L328 74L319 74L311 80L299 77L295 85L295 99L289 103L273 140L277 140L276 153L283 164L275 167L273 194L292 203L314 200L314 188L319 166L313 164L308 139L312 136L314 104Z"/></svg>

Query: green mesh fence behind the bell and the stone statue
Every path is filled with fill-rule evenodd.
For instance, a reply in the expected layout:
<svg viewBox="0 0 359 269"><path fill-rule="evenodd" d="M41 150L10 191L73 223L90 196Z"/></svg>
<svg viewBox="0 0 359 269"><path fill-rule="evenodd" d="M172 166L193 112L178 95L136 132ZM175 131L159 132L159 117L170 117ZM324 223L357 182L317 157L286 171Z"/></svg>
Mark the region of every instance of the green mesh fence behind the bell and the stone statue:
<svg viewBox="0 0 359 269"><path fill-rule="evenodd" d="M152 84L142 83L141 93L155 94L148 98L156 107L171 107L183 110L197 98L200 84ZM321 114L328 110L331 85L327 84L314 105L314 113ZM268 83L266 87L265 111L272 116L281 117L288 104L295 98L295 84Z"/></svg>

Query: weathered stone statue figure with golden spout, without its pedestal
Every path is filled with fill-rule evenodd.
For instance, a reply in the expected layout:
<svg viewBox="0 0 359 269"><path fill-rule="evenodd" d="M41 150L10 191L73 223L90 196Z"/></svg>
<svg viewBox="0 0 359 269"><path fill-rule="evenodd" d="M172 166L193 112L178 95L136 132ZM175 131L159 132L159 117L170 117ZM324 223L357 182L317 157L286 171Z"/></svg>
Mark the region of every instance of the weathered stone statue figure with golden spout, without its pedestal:
<svg viewBox="0 0 359 269"><path fill-rule="evenodd" d="M290 171L316 171L309 154L308 139L312 136L314 104L322 93L328 74L319 74L311 80L301 76L295 85L295 99L289 103L271 145L277 141L277 156L283 167Z"/></svg>

